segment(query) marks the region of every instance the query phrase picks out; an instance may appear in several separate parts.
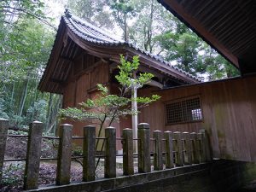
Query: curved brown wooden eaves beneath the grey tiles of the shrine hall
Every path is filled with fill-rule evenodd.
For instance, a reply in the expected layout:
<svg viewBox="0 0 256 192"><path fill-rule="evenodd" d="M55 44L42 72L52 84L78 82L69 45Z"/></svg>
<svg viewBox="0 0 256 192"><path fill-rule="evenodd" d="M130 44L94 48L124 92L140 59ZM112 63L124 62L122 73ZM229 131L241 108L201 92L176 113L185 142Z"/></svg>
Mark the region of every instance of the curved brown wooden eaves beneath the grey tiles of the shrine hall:
<svg viewBox="0 0 256 192"><path fill-rule="evenodd" d="M130 58L133 55L139 55L140 61L144 66L154 68L154 70L160 73L166 73L172 79L179 81L180 84L200 83L199 79L195 79L189 73L176 69L165 61L159 61L158 57L145 53L141 49L135 49L131 44L102 44L88 41L74 32L73 28L68 26L67 21L62 17L56 34L55 44L38 89L62 94L68 75L72 71L74 60L81 51L98 58L116 62L119 62L120 54L127 55Z"/></svg>

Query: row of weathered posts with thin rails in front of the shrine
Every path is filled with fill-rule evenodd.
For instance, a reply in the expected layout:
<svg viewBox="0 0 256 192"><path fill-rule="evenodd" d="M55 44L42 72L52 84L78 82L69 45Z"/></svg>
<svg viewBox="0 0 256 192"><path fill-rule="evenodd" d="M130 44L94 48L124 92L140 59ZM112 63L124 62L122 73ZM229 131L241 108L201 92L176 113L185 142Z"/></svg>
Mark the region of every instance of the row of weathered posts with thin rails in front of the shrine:
<svg viewBox="0 0 256 192"><path fill-rule="evenodd" d="M24 173L24 189L38 189L38 175L40 160L57 160L56 184L70 183L71 161L83 158L83 181L89 182L96 178L96 157L104 158L104 177L116 177L116 157L123 157L124 175L134 174L134 157L137 157L139 173L151 172L151 158L154 156L154 170L171 169L175 166L189 166L211 160L207 134L204 130L199 133L154 131L153 138L149 137L149 125L138 125L137 138L132 138L132 130L124 129L122 137L116 137L113 127L105 128L105 137L96 137L96 127L88 125L84 127L84 137L72 137L73 125L61 125L60 137L42 136L43 124L38 121L30 125L28 136L8 135L9 121L0 119L0 183L3 170L4 150L7 137L28 137L26 151L26 168ZM40 158L42 138L59 140L57 158ZM83 139L83 155L72 156L73 139ZM104 154L96 155L96 140L101 139L105 143ZM123 144L123 154L116 154L116 141ZM133 143L137 140L138 153L133 153ZM153 142L154 151L150 152L150 142ZM21 160L21 159L20 159Z"/></svg>

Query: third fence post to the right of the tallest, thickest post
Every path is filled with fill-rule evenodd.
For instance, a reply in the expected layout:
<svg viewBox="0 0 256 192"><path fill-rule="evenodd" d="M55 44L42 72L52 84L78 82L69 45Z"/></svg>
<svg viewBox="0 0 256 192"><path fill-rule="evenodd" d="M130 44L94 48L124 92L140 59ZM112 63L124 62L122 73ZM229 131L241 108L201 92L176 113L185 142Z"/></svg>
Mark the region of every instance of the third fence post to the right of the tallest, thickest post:
<svg viewBox="0 0 256 192"><path fill-rule="evenodd" d="M179 131L173 133L173 137L176 140L175 145L175 165L176 166L183 166L183 143L182 143L182 134Z"/></svg>

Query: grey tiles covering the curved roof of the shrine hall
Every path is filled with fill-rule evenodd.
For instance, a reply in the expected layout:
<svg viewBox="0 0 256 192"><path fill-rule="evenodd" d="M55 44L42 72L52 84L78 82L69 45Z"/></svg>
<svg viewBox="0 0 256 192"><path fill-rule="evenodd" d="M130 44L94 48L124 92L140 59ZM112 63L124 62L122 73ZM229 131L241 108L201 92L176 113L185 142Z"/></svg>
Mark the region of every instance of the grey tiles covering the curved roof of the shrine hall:
<svg viewBox="0 0 256 192"><path fill-rule="evenodd" d="M177 70L179 73L185 74L187 77L191 79L195 79L198 82L201 82L201 79L196 78L194 75L183 71L182 69L172 66L170 62L164 61L162 57L159 55L153 55L148 51L140 49L136 44L131 44L129 42L125 42L121 38L114 36L110 32L104 31L99 27L96 27L86 20L81 20L79 17L72 15L69 10L66 10L65 16L63 19L67 23L67 26L74 32L79 38L83 38L85 41L88 41L92 44L98 45L107 45L107 46L119 46L126 45L132 49L136 49L140 51L144 55L148 55L156 61L160 61L163 65L172 68L172 70Z"/></svg>

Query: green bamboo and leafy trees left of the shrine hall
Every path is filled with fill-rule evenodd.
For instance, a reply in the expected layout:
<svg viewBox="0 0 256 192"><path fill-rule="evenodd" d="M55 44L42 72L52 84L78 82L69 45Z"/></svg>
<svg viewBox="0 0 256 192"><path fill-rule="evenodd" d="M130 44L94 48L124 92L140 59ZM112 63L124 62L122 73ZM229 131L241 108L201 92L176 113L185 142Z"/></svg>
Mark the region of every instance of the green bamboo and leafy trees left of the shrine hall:
<svg viewBox="0 0 256 192"><path fill-rule="evenodd" d="M38 117L32 114L40 107L37 103L50 98L37 87L55 31L39 0L6 0L0 9L0 117L9 118L14 126L28 125L28 119ZM38 117L45 122L51 115L45 114L48 108L53 107L47 106L41 111L44 118Z"/></svg>

